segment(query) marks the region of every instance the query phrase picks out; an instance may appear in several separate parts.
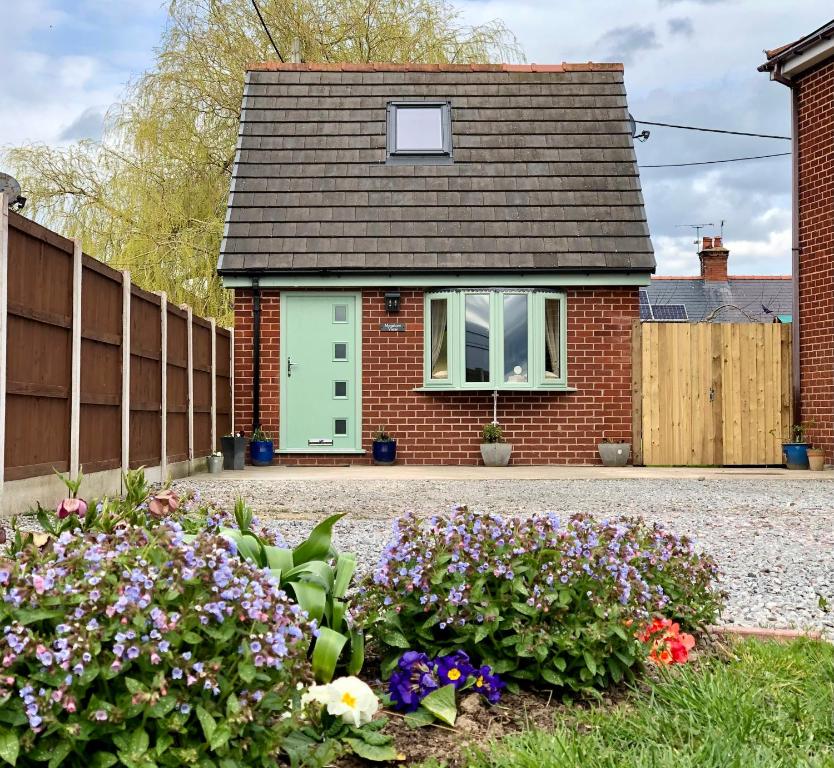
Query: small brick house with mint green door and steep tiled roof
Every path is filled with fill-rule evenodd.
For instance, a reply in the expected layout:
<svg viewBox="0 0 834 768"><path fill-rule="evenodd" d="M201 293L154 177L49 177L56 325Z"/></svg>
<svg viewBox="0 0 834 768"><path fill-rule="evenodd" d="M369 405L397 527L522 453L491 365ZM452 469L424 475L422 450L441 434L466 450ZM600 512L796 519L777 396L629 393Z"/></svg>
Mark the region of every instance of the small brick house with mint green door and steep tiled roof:
<svg viewBox="0 0 834 768"><path fill-rule="evenodd" d="M247 73L218 270L282 463L475 464L496 392L514 463L598 461L654 266L619 64Z"/></svg>

